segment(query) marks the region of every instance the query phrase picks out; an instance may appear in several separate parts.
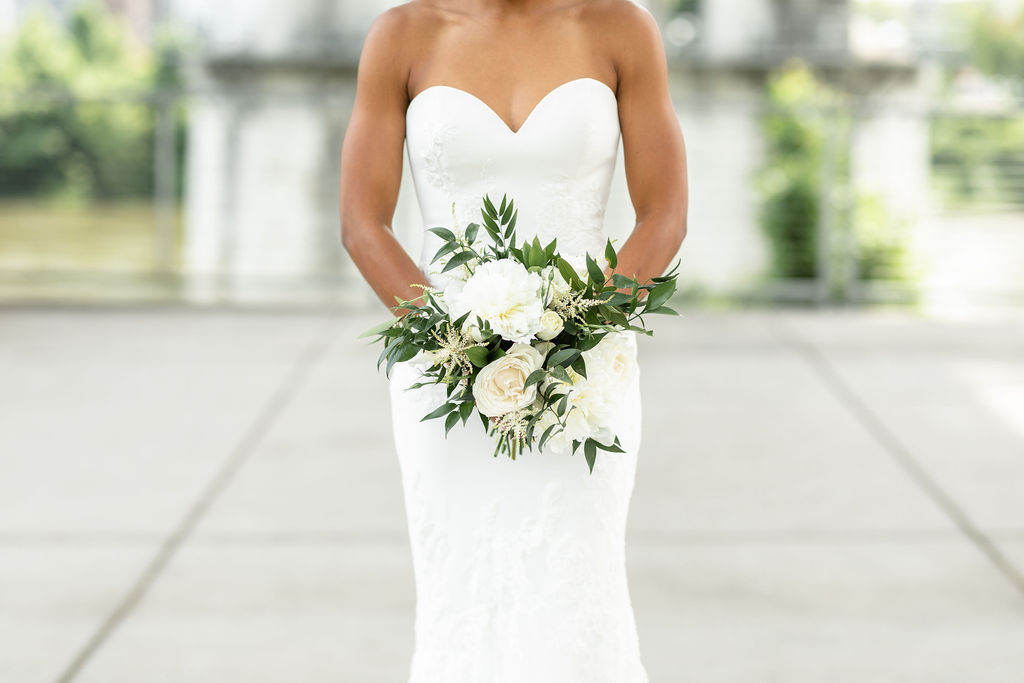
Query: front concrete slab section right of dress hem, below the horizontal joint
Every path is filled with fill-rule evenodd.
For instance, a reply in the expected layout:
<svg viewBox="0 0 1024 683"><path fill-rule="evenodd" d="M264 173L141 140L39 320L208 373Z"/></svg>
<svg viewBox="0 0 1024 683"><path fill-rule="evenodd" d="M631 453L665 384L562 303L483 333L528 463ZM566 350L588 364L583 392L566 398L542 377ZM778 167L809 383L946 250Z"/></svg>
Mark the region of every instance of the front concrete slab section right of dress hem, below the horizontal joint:
<svg viewBox="0 0 1024 683"><path fill-rule="evenodd" d="M652 681L1014 683L1024 595L955 537L629 549Z"/></svg>

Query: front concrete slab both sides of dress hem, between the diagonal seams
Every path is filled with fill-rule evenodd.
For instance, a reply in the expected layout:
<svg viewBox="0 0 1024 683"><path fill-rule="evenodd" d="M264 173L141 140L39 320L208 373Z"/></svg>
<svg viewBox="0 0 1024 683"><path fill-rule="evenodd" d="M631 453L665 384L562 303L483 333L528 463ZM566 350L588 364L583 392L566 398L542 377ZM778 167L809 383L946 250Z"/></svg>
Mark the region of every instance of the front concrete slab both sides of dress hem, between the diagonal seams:
<svg viewBox="0 0 1024 683"><path fill-rule="evenodd" d="M409 559L197 540L78 680L401 681ZM1024 596L954 536L638 543L628 562L651 680L1014 683L1024 667Z"/></svg>

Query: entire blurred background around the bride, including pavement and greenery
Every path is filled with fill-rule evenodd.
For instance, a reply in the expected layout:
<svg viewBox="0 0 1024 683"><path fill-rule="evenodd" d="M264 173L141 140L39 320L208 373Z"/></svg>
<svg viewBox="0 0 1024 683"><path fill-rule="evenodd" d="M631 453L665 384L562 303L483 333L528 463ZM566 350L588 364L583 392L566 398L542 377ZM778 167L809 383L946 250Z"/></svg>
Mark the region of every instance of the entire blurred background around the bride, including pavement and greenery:
<svg viewBox="0 0 1024 683"><path fill-rule="evenodd" d="M337 207L393 4L0 0L0 682L408 676ZM1024 3L642 4L690 191L641 340L651 680L1024 680Z"/></svg>

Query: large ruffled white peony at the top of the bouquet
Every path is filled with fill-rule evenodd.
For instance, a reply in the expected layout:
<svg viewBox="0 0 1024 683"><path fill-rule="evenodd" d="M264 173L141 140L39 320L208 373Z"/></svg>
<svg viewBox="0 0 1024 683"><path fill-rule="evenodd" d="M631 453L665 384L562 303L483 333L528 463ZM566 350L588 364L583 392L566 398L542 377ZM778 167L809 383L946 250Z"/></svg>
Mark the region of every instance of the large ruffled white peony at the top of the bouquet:
<svg viewBox="0 0 1024 683"><path fill-rule="evenodd" d="M470 318L475 322L479 315L503 339L528 342L542 327L541 276L512 259L487 261L458 292L453 288L449 305L453 319L468 311Z"/></svg>

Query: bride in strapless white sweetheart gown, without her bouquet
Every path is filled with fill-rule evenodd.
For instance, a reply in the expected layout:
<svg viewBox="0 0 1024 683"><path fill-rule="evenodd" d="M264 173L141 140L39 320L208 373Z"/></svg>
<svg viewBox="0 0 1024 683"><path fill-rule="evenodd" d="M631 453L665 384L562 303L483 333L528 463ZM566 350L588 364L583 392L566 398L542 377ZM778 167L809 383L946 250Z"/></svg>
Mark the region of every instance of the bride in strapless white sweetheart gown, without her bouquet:
<svg viewBox="0 0 1024 683"><path fill-rule="evenodd" d="M372 24L342 145L342 243L386 305L443 287L391 229L403 145L425 226L480 220L507 194L517 231L566 257L603 254L622 138L636 225L614 272L660 275L686 233L685 148L660 34L631 0L412 0ZM611 268L605 268L611 273ZM408 312L394 311L396 315ZM635 372L613 431L625 450L493 457L477 421L421 422L441 385L390 376L416 580L410 683L645 683L626 575L640 447ZM414 359L415 360L415 359ZM437 391L441 393L438 395ZM547 445L545 450L547 450Z"/></svg>

